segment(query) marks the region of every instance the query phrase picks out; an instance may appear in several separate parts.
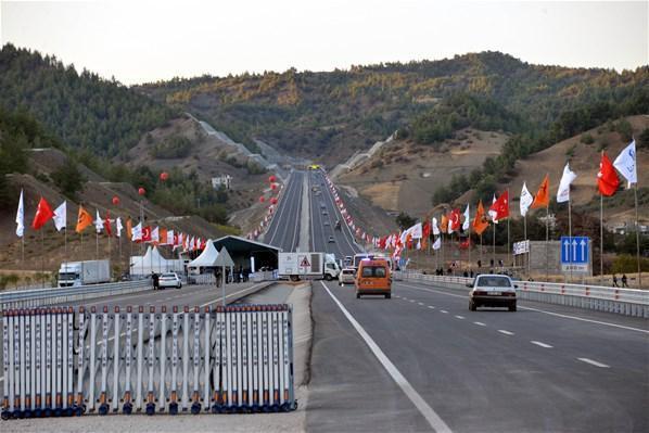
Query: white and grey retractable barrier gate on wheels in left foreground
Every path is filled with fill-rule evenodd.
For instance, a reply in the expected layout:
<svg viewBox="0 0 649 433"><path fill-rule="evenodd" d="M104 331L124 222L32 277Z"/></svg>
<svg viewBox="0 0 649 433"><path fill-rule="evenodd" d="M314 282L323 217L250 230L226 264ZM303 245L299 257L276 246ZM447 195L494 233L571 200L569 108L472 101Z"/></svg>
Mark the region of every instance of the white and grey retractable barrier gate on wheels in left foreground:
<svg viewBox="0 0 649 433"><path fill-rule="evenodd" d="M3 311L2 419L297 407L289 305Z"/></svg>

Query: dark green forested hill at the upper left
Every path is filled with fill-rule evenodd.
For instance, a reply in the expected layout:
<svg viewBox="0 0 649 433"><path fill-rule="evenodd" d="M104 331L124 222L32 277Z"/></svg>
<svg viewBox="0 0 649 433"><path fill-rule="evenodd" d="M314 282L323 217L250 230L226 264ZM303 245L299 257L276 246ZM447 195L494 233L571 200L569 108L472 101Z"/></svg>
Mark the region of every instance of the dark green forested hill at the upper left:
<svg viewBox="0 0 649 433"><path fill-rule="evenodd" d="M0 51L0 106L29 112L73 148L110 156L176 114L114 79L10 43Z"/></svg>

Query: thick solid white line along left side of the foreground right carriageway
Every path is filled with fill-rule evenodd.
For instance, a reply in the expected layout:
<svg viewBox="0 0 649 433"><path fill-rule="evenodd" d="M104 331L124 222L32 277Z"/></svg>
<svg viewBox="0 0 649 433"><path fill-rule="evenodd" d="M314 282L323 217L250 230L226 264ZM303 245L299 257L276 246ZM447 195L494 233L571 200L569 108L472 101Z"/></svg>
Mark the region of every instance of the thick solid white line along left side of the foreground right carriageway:
<svg viewBox="0 0 649 433"><path fill-rule="evenodd" d="M381 351L381 347L379 347L379 345L374 343L372 338L366 332L366 330L360 326L360 323L356 321L354 316L352 316L352 314L347 311L343 304L338 300L338 297L334 296L333 293L331 293L329 288L322 281L320 281L320 283L322 284L327 293L329 293L329 296L331 296L333 302L341 309L341 311L343 311L343 315L347 318L347 320L349 320L354 329L356 329L356 331L360 334L362 340L365 340L365 343L368 345L370 351L372 351L377 359L379 359L379 362L381 362L383 368L385 368L385 370L396 382L396 384L399 385L404 394L406 394L408 398L410 398L410 402L412 402L417 409L419 409L419 412L423 416L423 418L425 418L431 428L433 428L433 430L436 432L450 432L450 428L442 420L442 418L440 418L437 412L435 412L433 408L429 406L429 404L421 397L421 395L419 395L419 393L412 387L410 382L408 382L408 380L402 374L402 372L396 368L396 366L392 364L390 358L385 356L383 351Z"/></svg>

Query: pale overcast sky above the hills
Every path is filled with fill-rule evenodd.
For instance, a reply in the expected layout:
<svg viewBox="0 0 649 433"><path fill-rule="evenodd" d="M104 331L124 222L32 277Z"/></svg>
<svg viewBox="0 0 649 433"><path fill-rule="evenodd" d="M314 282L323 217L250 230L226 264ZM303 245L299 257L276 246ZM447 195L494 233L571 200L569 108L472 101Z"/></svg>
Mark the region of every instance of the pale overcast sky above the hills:
<svg viewBox="0 0 649 433"><path fill-rule="evenodd" d="M529 63L649 64L649 2L212 0L0 2L0 42L126 85L346 69L501 51Z"/></svg>

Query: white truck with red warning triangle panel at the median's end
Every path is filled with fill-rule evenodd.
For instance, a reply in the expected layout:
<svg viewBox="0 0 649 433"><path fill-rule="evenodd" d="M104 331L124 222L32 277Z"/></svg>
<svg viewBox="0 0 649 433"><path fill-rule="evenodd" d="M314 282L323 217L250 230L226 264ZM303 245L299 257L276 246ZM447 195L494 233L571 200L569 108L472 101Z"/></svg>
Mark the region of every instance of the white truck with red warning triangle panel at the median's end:
<svg viewBox="0 0 649 433"><path fill-rule="evenodd" d="M341 268L333 254L324 253L279 253L279 278L298 281L302 278L338 278Z"/></svg>

